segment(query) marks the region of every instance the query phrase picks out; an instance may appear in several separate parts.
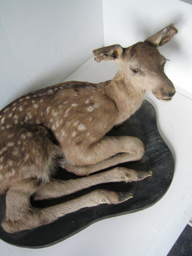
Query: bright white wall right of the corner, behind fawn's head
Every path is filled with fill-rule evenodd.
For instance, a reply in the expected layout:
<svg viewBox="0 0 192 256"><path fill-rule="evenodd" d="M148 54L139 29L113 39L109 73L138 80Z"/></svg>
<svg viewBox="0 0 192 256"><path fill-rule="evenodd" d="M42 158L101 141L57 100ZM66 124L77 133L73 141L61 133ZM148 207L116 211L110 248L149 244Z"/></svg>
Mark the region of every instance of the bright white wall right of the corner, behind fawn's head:
<svg viewBox="0 0 192 256"><path fill-rule="evenodd" d="M171 60L165 66L168 77L192 92L192 5L178 0L103 0L102 4L105 46L131 46L173 23L178 34L158 49Z"/></svg>

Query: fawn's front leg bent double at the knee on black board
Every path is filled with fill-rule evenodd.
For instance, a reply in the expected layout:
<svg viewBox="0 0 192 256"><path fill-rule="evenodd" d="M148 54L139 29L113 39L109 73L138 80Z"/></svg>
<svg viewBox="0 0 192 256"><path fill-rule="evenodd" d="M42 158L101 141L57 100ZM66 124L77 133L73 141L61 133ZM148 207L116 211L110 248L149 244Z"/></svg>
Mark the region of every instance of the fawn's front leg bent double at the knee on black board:
<svg viewBox="0 0 192 256"><path fill-rule="evenodd" d="M92 145L86 154L85 158L89 159L92 156L93 159L86 159L85 164L72 165L60 159L59 165L77 175L88 175L116 164L140 160L144 155L144 144L136 137L105 136ZM88 162L92 164L87 164Z"/></svg>

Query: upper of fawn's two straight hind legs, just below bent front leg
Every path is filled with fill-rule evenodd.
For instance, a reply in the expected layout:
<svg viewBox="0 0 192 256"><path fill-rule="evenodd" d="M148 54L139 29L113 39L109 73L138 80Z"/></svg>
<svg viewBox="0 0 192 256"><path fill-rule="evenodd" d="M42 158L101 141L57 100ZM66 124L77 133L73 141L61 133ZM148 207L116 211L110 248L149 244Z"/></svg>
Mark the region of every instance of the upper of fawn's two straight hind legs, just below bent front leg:
<svg viewBox="0 0 192 256"><path fill-rule="evenodd" d="M41 183L38 186L34 199L56 198L102 183L140 181L151 175L152 172L138 172L124 167L116 167L84 178L72 180L51 179L50 182Z"/></svg>

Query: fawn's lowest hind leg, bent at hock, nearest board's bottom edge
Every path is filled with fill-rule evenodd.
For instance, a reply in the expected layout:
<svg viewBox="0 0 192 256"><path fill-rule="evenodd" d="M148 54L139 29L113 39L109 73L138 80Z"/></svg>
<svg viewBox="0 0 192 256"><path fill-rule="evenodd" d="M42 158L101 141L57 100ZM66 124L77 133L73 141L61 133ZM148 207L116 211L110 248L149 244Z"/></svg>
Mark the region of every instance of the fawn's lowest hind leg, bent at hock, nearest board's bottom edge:
<svg viewBox="0 0 192 256"><path fill-rule="evenodd" d="M129 193L94 190L74 200L38 209L32 208L30 194L18 190L9 190L6 196L6 217L1 225L8 233L32 229L53 222L65 214L75 212L84 207L105 203L118 204L129 198L132 198Z"/></svg>

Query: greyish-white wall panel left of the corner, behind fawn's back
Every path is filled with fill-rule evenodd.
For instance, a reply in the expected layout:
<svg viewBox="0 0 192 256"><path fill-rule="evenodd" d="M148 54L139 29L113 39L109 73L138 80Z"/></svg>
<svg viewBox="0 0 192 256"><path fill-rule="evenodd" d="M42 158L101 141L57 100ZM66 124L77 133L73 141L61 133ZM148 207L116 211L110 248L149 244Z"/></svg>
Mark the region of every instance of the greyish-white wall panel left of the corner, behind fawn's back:
<svg viewBox="0 0 192 256"><path fill-rule="evenodd" d="M0 109L104 46L102 0L0 0Z"/></svg>

